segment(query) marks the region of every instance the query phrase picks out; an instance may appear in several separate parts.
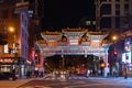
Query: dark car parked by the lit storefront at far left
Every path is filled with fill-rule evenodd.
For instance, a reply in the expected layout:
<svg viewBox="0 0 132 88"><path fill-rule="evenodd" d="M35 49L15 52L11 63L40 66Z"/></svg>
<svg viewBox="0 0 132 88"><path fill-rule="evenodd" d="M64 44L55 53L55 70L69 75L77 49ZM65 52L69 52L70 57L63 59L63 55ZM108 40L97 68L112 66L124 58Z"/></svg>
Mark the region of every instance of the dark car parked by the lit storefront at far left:
<svg viewBox="0 0 132 88"><path fill-rule="evenodd" d="M18 77L13 73L0 73L0 80L15 80Z"/></svg>

